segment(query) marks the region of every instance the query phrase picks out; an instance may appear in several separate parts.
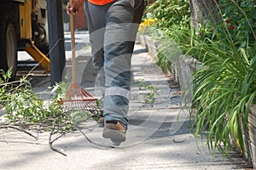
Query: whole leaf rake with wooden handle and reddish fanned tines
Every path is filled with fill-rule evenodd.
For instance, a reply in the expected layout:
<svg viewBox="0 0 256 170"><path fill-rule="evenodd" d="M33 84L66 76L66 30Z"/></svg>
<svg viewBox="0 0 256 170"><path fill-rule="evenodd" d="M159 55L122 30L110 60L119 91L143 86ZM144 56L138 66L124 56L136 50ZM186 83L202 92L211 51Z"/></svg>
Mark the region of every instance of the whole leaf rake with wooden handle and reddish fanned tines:
<svg viewBox="0 0 256 170"><path fill-rule="evenodd" d="M72 5L73 0L69 0ZM102 114L101 108L97 105L95 97L86 92L77 83L76 57L75 57L75 38L73 28L73 13L70 14L70 32L72 48L72 76L73 83L67 88L66 98L61 99L61 105L67 111L89 111L93 116Z"/></svg>

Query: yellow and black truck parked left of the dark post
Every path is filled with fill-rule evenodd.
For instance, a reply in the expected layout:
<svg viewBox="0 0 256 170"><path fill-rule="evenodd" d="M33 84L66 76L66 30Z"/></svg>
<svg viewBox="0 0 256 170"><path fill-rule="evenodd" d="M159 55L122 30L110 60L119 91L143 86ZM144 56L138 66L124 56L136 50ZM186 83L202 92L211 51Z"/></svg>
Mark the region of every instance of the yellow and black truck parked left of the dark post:
<svg viewBox="0 0 256 170"><path fill-rule="evenodd" d="M0 70L17 69L17 52L25 50L49 71L46 0L0 0Z"/></svg>

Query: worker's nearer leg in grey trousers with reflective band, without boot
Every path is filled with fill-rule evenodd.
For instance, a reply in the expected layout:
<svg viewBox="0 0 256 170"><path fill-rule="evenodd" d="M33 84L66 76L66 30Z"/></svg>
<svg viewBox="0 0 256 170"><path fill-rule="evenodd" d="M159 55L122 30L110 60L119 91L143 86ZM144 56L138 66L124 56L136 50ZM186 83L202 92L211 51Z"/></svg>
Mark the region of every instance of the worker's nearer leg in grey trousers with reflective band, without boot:
<svg viewBox="0 0 256 170"><path fill-rule="evenodd" d="M140 0L116 1L106 14L104 119L105 122L121 122L125 128L129 122L127 112L131 89L131 54L137 32L137 25L132 22L139 3Z"/></svg>

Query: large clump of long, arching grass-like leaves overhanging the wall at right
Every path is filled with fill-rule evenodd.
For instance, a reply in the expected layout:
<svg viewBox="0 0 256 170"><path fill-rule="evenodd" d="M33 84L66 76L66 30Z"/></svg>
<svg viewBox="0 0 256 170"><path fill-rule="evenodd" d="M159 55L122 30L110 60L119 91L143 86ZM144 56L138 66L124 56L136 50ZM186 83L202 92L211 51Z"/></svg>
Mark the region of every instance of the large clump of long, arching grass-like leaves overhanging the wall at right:
<svg viewBox="0 0 256 170"><path fill-rule="evenodd" d="M201 54L205 67L195 73L195 134L207 131L211 150L230 149L230 136L243 150L241 126L247 126L248 110L256 96L255 60L248 60L247 49L227 50L220 42L205 44ZM234 54L236 53L236 54ZM242 118L242 124L240 124ZM213 135L213 139L212 139Z"/></svg>

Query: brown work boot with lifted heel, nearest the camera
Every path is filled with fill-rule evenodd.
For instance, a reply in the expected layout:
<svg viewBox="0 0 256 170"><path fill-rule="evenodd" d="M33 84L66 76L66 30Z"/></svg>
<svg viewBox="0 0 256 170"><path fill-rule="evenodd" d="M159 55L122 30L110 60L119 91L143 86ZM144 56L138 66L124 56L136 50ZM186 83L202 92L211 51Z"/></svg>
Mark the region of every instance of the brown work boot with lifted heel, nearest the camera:
<svg viewBox="0 0 256 170"><path fill-rule="evenodd" d="M102 137L111 139L114 144L120 144L126 139L126 129L120 122L107 122L104 126Z"/></svg>

